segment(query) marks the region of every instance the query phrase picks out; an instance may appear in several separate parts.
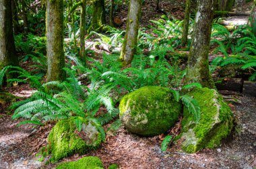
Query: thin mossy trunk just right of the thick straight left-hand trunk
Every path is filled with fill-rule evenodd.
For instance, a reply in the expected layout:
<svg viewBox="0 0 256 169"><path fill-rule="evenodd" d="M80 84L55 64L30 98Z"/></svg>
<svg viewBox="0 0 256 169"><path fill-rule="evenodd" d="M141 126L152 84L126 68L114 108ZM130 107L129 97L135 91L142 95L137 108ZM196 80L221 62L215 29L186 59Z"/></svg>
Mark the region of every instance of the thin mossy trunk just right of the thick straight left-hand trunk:
<svg viewBox="0 0 256 169"><path fill-rule="evenodd" d="M80 18L80 53L79 57L83 61L86 61L86 49L84 38L86 35L86 0L82 0L83 5L81 6L81 18Z"/></svg>

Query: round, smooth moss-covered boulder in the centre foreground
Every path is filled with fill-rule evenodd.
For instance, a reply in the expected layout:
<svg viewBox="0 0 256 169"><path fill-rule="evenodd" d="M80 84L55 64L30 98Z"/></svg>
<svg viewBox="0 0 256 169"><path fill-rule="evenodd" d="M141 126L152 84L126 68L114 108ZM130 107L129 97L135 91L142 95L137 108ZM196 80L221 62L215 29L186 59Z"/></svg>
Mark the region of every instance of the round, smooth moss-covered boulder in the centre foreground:
<svg viewBox="0 0 256 169"><path fill-rule="evenodd" d="M120 102L120 118L131 133L152 136L164 133L177 121L181 102L168 88L145 86L125 95Z"/></svg>

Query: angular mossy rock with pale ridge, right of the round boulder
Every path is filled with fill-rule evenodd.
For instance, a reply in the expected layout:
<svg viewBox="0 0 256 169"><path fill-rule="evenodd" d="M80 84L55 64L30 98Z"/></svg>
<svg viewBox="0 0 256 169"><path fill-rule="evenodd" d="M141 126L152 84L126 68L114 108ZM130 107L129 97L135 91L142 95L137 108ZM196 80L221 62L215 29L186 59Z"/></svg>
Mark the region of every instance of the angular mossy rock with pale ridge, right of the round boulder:
<svg viewBox="0 0 256 169"><path fill-rule="evenodd" d="M195 124L187 108L183 112L182 148L194 153L203 148L214 148L230 134L233 115L222 96L214 89L201 88L188 93L197 100L201 108L201 119Z"/></svg>

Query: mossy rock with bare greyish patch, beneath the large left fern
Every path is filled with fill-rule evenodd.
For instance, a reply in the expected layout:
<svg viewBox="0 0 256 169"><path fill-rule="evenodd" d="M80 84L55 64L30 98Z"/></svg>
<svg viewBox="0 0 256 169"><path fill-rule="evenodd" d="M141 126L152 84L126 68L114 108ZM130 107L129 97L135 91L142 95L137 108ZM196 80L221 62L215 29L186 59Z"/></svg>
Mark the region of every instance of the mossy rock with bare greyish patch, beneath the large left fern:
<svg viewBox="0 0 256 169"><path fill-rule="evenodd" d="M83 122L81 132L78 132L75 127L77 118ZM52 154L53 161L73 154L85 154L91 149L96 149L101 141L101 135L96 125L82 117L71 117L59 121L48 137L49 152Z"/></svg>

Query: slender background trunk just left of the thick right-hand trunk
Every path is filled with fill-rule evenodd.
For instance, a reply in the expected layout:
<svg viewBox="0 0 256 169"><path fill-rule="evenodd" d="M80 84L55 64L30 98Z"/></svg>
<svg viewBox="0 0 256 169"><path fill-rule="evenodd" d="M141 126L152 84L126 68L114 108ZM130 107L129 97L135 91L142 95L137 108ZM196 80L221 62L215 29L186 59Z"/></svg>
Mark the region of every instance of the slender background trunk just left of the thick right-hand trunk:
<svg viewBox="0 0 256 169"><path fill-rule="evenodd" d="M191 0L186 0L185 17L183 20L183 34L181 38L181 46L186 46L187 35L189 33L189 14L190 14Z"/></svg>

